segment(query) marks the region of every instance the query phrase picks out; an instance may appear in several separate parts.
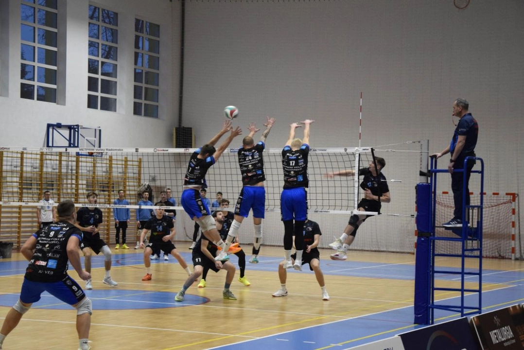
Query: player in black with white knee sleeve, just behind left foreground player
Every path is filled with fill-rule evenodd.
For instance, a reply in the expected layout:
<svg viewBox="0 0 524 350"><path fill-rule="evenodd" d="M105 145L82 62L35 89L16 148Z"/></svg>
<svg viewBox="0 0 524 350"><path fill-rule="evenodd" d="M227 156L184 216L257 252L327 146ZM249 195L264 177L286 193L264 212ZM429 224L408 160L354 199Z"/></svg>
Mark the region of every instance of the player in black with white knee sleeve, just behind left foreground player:
<svg viewBox="0 0 524 350"><path fill-rule="evenodd" d="M96 204L98 194L89 192L86 196L90 204ZM111 287L118 286L118 283L111 278L111 249L100 237L99 225L102 223L102 211L94 206L83 206L77 212L77 223L75 226L82 230L83 238L80 249L84 253L85 270L91 274L91 249L98 255L101 251L104 254L105 277L103 282ZM91 279L85 282L85 289L93 289Z"/></svg>

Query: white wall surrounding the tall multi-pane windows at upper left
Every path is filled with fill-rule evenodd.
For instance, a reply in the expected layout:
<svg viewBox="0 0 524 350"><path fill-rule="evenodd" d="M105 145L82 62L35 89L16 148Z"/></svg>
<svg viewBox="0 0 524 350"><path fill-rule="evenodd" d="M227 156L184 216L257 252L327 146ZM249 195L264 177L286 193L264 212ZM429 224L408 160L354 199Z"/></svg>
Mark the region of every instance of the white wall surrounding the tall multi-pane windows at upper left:
<svg viewBox="0 0 524 350"><path fill-rule="evenodd" d="M9 1L8 97L0 96L3 146L40 147L47 123L80 124L102 128L103 147L172 147L172 130L178 125L179 3L167 0L67 1L67 75L65 104L20 99L20 2ZM63 1L60 4L65 4ZM118 13L117 112L87 108L88 6L94 4ZM62 6L61 10L64 10ZM159 119L133 115L133 64L135 16L160 25ZM3 48L2 48L3 49ZM60 64L60 63L59 63ZM3 79L3 78L2 78ZM172 82L175 82L172 84ZM2 95L5 96L4 90Z"/></svg>

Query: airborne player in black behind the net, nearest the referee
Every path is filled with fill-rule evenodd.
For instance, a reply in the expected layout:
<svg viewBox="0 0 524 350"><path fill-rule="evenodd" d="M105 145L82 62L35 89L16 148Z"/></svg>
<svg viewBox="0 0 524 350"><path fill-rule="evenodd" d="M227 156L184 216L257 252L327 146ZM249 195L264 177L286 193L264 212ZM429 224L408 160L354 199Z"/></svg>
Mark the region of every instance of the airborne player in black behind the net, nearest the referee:
<svg viewBox="0 0 524 350"><path fill-rule="evenodd" d="M376 162L376 168L375 168ZM375 162L369 163L369 168L363 168L358 171L359 176L364 176L361 182L361 188L364 190L364 198L358 203L358 210L365 212L379 212L381 203L391 202L391 196L389 195L389 187L386 177L381 172L386 166L384 158L375 157ZM342 170L336 172L330 172L326 174L326 177L332 178L335 175L339 176L353 176L355 170ZM346 251L355 240L357 229L362 223L372 215L357 215L353 214L350 217L350 221L347 223L344 233L340 238L337 238L335 242L329 246L336 249L335 254L331 254L332 260L345 260L347 259Z"/></svg>

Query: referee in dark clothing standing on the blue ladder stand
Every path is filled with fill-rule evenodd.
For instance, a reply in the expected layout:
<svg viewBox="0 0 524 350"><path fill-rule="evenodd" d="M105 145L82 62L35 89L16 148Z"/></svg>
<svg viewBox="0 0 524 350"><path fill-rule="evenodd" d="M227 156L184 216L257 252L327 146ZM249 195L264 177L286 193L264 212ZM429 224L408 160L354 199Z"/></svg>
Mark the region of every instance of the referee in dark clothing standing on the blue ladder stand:
<svg viewBox="0 0 524 350"><path fill-rule="evenodd" d="M473 115L468 112L470 104L466 99L456 99L453 103L453 114L459 117L460 121L455 128L451 143L444 148L442 152L432 154L431 157L437 159L451 153L450 163L447 165L447 170L451 173L451 190L453 191L453 201L455 203L455 211L453 218L442 224L444 227L462 227L462 208L463 205L470 205L470 176L471 170L476 161L470 159L467 161L466 169L464 169L464 160L466 157L475 157L475 146L478 138L478 124ZM466 183L464 183L464 172L454 172L453 170L464 169L466 171ZM466 202L462 203L463 191L466 195Z"/></svg>

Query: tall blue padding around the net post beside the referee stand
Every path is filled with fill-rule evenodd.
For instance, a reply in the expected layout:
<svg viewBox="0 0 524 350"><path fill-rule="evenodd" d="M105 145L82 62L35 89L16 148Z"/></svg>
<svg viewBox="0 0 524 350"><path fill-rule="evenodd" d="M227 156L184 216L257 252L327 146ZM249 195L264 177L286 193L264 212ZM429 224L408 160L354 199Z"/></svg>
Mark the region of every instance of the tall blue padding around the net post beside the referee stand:
<svg viewBox="0 0 524 350"><path fill-rule="evenodd" d="M431 185L418 183L417 187L417 252L415 257L414 321L430 324L430 236Z"/></svg>

